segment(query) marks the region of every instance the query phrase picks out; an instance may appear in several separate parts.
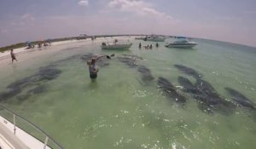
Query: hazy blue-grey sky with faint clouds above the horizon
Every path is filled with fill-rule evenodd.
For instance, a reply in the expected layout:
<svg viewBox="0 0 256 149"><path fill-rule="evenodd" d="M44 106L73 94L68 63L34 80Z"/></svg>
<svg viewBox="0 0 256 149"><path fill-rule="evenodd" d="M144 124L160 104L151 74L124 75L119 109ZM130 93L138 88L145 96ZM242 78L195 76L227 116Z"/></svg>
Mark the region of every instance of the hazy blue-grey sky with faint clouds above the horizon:
<svg viewBox="0 0 256 149"><path fill-rule="evenodd" d="M0 47L85 33L155 33L256 46L256 0L1 0Z"/></svg>

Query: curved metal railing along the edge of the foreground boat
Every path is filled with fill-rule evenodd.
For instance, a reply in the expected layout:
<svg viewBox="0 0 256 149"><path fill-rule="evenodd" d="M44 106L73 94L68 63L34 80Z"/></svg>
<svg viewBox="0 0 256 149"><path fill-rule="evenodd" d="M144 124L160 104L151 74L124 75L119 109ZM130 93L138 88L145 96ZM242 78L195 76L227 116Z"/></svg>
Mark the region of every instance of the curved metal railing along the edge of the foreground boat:
<svg viewBox="0 0 256 149"><path fill-rule="evenodd" d="M12 123L13 128L12 132L16 135L17 130L23 130L28 135L32 135L38 141L44 144L42 149L56 148L63 149L63 147L57 143L51 136L44 132L43 129L40 129L37 125L27 120L25 117L21 117L19 114L10 111L8 108L0 104L1 116ZM8 123L4 121L3 123ZM29 127L27 127L29 126ZM19 129L18 129L19 128ZM39 149L39 148L38 148Z"/></svg>

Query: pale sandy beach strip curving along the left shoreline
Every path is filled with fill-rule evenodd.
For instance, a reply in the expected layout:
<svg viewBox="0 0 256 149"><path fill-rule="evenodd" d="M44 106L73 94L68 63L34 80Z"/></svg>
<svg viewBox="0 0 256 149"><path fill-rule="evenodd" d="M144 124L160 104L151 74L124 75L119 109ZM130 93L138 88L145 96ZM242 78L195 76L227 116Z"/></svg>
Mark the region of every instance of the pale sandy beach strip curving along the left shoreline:
<svg viewBox="0 0 256 149"><path fill-rule="evenodd" d="M102 43L102 42L112 42L114 39L121 40L131 40L134 37L99 37L96 40L91 41L90 38L83 40L67 40L61 42L50 43L50 46L38 48L38 45L32 49L26 49L26 47L22 47L19 49L14 49L14 53L18 61L14 61L14 64L18 64L22 61L35 59L40 55L49 54L50 52L60 51L62 49L75 48L84 46L90 43ZM100 46L99 46L100 48ZM3 53L0 53L0 67L12 65L10 50L7 50Z"/></svg>

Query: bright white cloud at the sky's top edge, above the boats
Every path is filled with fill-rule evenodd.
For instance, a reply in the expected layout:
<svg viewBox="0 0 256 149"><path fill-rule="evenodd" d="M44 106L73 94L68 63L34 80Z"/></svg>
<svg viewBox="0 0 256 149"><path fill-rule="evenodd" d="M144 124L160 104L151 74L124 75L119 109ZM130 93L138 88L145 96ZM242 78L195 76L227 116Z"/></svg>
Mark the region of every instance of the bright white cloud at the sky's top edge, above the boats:
<svg viewBox="0 0 256 149"><path fill-rule="evenodd" d="M132 12L139 15L149 15L164 17L166 19L172 19L171 15L162 13L156 9L150 7L149 3L145 3L142 0L111 0L108 3L111 8L119 9L121 11Z"/></svg>

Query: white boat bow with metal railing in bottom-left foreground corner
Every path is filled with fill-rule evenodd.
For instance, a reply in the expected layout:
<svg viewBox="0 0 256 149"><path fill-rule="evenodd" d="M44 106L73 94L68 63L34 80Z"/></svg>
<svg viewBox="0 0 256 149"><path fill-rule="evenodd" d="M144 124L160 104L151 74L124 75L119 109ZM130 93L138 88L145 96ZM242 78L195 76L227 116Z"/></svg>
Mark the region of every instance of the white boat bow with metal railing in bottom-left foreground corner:
<svg viewBox="0 0 256 149"><path fill-rule="evenodd" d="M0 107L0 149L63 148L35 124L27 121L24 117L20 117L15 112L9 111L2 105ZM9 118L3 116L9 116Z"/></svg>

